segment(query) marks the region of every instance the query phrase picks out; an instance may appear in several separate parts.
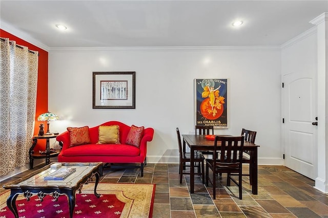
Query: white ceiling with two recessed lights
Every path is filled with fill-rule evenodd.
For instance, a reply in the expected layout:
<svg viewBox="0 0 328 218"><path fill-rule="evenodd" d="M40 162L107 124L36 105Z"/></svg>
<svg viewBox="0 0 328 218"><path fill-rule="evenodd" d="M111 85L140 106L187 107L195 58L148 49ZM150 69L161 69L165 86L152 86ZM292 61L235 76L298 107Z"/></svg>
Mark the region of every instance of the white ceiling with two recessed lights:
<svg viewBox="0 0 328 218"><path fill-rule="evenodd" d="M46 47L280 46L325 1L6 1L0 28ZM239 28L231 24L242 19ZM66 31L55 25L64 24ZM12 32L10 32L12 33Z"/></svg>

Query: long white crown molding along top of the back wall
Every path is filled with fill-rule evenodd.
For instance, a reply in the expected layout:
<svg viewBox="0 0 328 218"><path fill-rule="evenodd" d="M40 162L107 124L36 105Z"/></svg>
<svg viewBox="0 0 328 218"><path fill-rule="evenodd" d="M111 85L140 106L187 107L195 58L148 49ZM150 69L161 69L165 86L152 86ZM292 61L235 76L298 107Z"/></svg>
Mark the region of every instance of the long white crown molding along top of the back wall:
<svg viewBox="0 0 328 218"><path fill-rule="evenodd" d="M280 46L60 47L49 52L280 51Z"/></svg>

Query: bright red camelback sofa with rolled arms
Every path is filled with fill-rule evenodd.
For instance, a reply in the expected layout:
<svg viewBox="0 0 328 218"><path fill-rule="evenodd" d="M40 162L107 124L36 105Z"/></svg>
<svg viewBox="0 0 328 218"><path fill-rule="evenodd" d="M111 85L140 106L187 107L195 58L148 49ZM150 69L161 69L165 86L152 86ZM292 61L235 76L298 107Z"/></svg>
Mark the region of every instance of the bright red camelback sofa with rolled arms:
<svg viewBox="0 0 328 218"><path fill-rule="evenodd" d="M125 144L131 126L118 121L109 121L101 125L119 126L121 144L96 144L98 142L98 126L89 128L90 144L70 147L68 131L58 135L56 140L62 149L58 155L58 162L103 162L103 163L140 163L141 177L144 176L144 165L147 164L147 142L153 140L154 129L145 128L140 146Z"/></svg>

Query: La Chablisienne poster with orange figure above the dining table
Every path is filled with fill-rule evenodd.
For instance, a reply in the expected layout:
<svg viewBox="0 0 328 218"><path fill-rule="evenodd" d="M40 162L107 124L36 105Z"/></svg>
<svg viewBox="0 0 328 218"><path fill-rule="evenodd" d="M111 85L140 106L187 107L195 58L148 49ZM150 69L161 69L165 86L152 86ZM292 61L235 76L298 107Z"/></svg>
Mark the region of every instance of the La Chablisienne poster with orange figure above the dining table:
<svg viewBox="0 0 328 218"><path fill-rule="evenodd" d="M195 79L195 123L228 128L228 79Z"/></svg>

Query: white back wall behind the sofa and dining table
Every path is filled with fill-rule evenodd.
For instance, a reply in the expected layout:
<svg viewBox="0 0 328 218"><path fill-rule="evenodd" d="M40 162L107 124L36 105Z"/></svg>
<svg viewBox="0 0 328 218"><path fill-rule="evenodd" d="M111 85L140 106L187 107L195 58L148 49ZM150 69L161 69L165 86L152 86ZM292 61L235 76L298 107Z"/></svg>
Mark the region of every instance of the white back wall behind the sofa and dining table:
<svg viewBox="0 0 328 218"><path fill-rule="evenodd" d="M259 163L281 164L280 49L92 48L49 51L52 132L109 120L153 127L148 162L178 162L175 128L194 133L194 78L229 78L229 129L257 131ZM93 71L135 71L136 108L92 109Z"/></svg>

